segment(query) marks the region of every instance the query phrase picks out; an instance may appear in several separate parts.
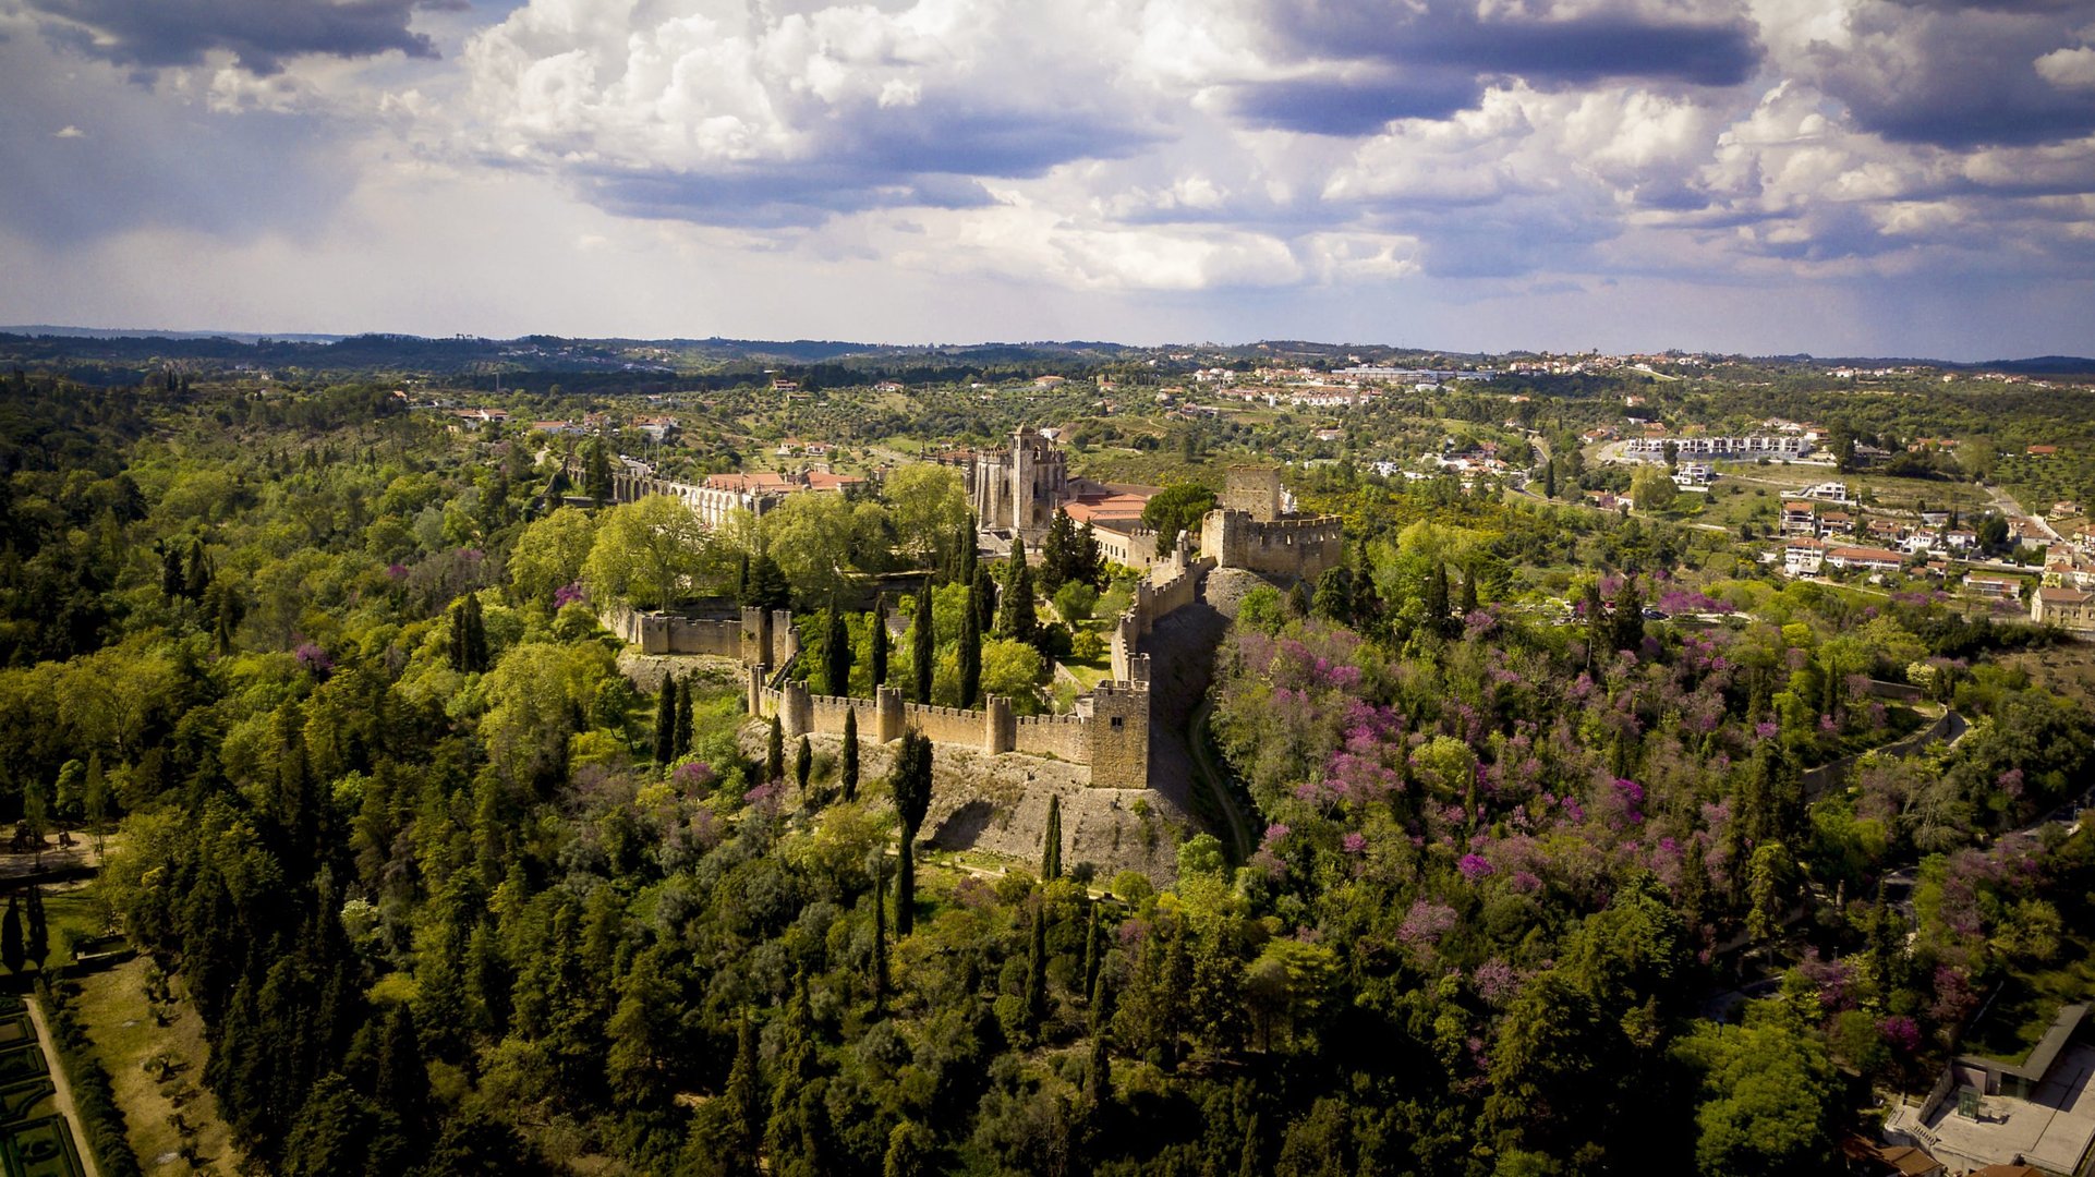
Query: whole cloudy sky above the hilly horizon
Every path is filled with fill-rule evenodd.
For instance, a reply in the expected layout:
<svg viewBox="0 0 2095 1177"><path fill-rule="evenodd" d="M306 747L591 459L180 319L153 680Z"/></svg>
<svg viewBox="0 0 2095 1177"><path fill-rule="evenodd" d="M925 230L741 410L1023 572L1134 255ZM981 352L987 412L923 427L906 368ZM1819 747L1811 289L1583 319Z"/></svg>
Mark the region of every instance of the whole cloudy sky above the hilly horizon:
<svg viewBox="0 0 2095 1177"><path fill-rule="evenodd" d="M2095 354L2091 0L0 0L0 323Z"/></svg>

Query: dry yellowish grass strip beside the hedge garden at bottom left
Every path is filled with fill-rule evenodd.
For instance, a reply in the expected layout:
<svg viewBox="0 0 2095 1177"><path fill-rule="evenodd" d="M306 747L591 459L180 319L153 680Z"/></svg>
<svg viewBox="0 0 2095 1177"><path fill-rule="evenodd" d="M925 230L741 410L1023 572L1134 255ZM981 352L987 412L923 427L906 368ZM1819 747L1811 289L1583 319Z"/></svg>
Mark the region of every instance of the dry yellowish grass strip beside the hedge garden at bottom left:
<svg viewBox="0 0 2095 1177"><path fill-rule="evenodd" d="M138 957L82 978L75 1005L115 1085L132 1152L147 1173L176 1177L195 1173L180 1158L180 1135L168 1123L176 1112L176 1100L182 1100L180 1112L197 1129L197 1156L203 1169L235 1173L239 1154L233 1150L226 1123L218 1118L218 1100L203 1087L203 1020L182 1001L174 1007L176 1018L170 1024L155 1024L145 1001L147 968L147 959ZM166 1081L157 1081L145 1066L159 1053L174 1060ZM159 1164L161 1156L172 1158Z"/></svg>

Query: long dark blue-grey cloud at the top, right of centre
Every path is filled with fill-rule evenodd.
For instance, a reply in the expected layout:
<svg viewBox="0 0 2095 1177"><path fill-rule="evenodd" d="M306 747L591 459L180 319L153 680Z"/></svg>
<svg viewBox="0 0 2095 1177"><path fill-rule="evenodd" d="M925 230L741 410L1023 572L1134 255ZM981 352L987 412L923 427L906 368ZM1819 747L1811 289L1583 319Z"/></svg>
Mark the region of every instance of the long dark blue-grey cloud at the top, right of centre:
<svg viewBox="0 0 2095 1177"><path fill-rule="evenodd" d="M1538 90L1603 80L1737 86L1760 65L1745 23L1590 15L1563 21L1479 19L1473 4L1420 13L1286 0L1267 23L1320 77L1249 84L1232 109L1249 124L1309 134L1368 134L1391 119L1439 119L1475 105L1492 80Z"/></svg>

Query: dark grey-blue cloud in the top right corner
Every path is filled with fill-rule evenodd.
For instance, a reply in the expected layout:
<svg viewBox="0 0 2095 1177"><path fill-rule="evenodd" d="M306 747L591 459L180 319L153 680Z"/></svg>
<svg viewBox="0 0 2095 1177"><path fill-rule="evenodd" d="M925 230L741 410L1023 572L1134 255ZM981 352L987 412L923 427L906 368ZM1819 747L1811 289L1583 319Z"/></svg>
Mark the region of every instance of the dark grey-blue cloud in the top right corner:
<svg viewBox="0 0 2095 1177"><path fill-rule="evenodd" d="M2078 44L2085 4L1873 4L1856 48L1812 50L1818 86L1865 130L1967 149L2059 142L2095 132L2095 90L2064 90L2034 61Z"/></svg>

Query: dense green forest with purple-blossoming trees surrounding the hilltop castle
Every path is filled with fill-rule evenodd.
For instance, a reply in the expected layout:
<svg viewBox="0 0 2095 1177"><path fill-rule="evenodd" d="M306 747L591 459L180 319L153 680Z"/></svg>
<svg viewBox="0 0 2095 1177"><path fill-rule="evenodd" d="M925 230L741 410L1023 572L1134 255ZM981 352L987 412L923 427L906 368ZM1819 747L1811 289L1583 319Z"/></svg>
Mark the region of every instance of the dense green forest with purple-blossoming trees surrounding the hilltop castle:
<svg viewBox="0 0 2095 1177"><path fill-rule="evenodd" d="M821 609L930 570L890 681L1018 689L957 473L700 534L561 505L559 457L383 383L0 394L0 817L109 836L266 1171L1816 1173L2089 955L2095 834L2043 817L2095 723L1994 658L2055 635L1349 463L1295 482L1347 563L1217 651L1253 854L911 888L928 750L794 764L595 607L792 601L863 693Z"/></svg>

